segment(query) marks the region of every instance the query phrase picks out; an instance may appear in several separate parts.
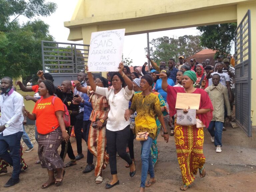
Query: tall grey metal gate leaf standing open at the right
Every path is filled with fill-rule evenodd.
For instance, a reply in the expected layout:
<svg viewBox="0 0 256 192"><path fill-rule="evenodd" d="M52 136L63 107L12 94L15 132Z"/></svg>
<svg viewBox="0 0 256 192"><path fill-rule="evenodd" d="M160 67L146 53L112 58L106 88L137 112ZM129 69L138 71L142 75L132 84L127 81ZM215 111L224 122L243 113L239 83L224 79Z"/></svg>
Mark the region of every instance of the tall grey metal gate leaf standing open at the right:
<svg viewBox="0 0 256 192"><path fill-rule="evenodd" d="M236 123L251 137L251 13L235 31Z"/></svg>

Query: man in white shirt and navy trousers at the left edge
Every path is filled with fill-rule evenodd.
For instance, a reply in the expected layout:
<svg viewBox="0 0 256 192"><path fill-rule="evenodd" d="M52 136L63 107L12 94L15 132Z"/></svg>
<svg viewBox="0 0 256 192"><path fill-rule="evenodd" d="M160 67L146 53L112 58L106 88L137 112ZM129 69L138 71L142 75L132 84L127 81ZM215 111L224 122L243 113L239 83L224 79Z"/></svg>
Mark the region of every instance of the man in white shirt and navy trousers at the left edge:
<svg viewBox="0 0 256 192"><path fill-rule="evenodd" d="M21 169L19 151L23 134L23 97L13 90L12 85L10 77L1 80L0 158L13 166L12 176L4 187L11 187L20 181Z"/></svg>

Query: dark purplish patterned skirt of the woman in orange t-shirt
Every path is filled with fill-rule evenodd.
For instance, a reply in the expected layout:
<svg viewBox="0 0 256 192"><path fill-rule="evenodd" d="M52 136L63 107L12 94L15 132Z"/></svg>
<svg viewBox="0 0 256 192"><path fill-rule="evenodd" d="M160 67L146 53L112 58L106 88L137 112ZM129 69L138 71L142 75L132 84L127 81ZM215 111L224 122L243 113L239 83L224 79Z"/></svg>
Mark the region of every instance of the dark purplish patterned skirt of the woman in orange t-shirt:
<svg viewBox="0 0 256 192"><path fill-rule="evenodd" d="M65 166L58 154L61 142L62 132L60 127L45 135L38 133L38 157L42 168L54 170Z"/></svg>

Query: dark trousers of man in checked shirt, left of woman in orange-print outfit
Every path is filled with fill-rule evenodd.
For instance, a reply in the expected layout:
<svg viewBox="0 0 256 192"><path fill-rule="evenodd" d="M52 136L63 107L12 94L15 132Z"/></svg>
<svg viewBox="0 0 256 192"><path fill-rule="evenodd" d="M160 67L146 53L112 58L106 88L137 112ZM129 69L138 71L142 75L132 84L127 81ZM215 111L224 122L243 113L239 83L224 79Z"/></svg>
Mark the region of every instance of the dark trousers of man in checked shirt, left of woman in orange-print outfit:
<svg viewBox="0 0 256 192"><path fill-rule="evenodd" d="M83 118L84 118L84 112L82 111L76 116L76 123L74 125L74 132L76 135L76 147L77 147L78 154L82 153L82 139L83 139L82 128L84 123Z"/></svg>

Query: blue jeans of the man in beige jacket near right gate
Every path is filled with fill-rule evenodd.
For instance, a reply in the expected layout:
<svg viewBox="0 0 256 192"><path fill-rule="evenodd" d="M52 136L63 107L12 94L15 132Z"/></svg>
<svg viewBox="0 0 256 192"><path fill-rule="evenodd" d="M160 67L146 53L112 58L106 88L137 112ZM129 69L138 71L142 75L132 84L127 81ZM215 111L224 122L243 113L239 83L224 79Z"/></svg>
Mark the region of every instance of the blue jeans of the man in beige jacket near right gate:
<svg viewBox="0 0 256 192"><path fill-rule="evenodd" d="M214 130L215 127L215 130ZM222 128L223 128L223 122L220 121L211 121L208 131L211 134L212 137L214 137L214 145L215 147L217 145L222 146L221 138L222 138Z"/></svg>

